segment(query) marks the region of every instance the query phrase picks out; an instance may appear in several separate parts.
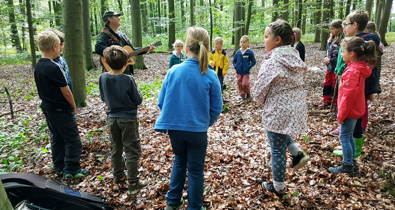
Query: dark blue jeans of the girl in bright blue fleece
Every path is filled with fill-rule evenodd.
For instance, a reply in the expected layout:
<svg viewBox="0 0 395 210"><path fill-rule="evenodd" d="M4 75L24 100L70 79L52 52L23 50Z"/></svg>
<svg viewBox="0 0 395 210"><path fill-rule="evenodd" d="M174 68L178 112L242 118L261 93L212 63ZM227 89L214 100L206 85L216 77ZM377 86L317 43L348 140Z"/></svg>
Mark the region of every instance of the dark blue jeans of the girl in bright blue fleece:
<svg viewBox="0 0 395 210"><path fill-rule="evenodd" d="M180 205L188 169L188 210L201 210L203 204L204 158L207 131L168 130L174 152L170 189L165 198L172 206Z"/></svg>

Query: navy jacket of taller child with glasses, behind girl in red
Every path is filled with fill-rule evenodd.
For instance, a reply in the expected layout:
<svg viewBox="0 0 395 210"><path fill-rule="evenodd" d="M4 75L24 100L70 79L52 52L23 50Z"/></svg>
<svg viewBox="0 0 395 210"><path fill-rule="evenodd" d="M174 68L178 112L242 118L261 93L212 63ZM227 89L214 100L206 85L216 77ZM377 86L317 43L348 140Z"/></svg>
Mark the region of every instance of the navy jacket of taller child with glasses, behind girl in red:
<svg viewBox="0 0 395 210"><path fill-rule="evenodd" d="M376 48L380 45L380 37L376 33L362 32L356 34L357 37L361 37L365 41L373 40L376 44ZM376 93L376 85L379 82L379 76L377 75L377 64L372 69L372 74L365 79L365 97L370 94Z"/></svg>

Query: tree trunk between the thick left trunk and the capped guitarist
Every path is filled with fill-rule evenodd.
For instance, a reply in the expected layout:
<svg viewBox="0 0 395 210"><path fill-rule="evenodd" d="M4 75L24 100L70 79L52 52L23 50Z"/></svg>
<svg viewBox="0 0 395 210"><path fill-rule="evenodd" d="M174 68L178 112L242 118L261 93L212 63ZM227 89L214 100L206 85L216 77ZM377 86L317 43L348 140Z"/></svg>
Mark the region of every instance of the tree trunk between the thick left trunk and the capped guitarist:
<svg viewBox="0 0 395 210"><path fill-rule="evenodd" d="M83 58L84 65L88 71L92 68L96 68L93 62L92 55L92 36L89 20L89 0L82 0L82 41L83 41Z"/></svg>

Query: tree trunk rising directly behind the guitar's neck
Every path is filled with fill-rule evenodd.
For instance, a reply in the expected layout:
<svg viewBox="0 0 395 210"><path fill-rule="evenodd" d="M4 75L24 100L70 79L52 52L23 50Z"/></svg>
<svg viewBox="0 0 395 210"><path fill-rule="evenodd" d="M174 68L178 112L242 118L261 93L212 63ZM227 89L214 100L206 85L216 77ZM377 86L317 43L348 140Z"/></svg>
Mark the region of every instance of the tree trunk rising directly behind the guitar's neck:
<svg viewBox="0 0 395 210"><path fill-rule="evenodd" d="M159 2L158 2L159 3ZM132 15L132 40L133 46L143 46L143 35L141 32L140 0L130 0L130 11ZM144 63L143 56L135 56L134 68L148 69Z"/></svg>

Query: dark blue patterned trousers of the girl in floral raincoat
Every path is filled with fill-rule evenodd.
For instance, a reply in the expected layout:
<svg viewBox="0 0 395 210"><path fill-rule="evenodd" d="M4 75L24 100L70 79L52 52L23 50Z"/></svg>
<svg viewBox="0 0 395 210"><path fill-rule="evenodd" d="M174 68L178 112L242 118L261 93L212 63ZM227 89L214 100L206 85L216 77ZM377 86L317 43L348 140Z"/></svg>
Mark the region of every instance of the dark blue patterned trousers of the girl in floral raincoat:
<svg viewBox="0 0 395 210"><path fill-rule="evenodd" d="M290 135L266 131L272 159L273 180L285 181L287 146L295 143Z"/></svg>

